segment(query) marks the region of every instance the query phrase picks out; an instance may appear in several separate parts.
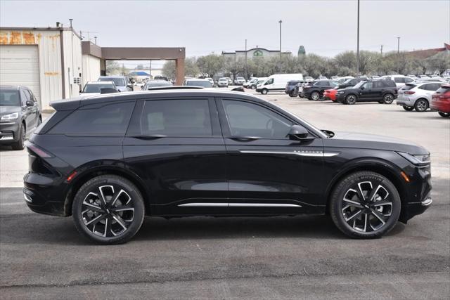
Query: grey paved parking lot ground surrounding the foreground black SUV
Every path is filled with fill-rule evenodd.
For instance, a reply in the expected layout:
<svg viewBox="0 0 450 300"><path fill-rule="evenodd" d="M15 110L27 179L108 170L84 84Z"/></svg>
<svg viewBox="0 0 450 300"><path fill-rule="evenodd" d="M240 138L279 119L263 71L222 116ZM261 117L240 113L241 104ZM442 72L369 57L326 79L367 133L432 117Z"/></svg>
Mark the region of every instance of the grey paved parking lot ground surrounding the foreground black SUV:
<svg viewBox="0 0 450 300"><path fill-rule="evenodd" d="M21 188L27 152L2 147L2 297L448 297L450 120L437 112L406 112L395 103L262 97L320 129L423 145L432 155L432 207L378 240L349 239L328 216L146 218L131 242L103 247L82 240L71 218L27 209Z"/></svg>

